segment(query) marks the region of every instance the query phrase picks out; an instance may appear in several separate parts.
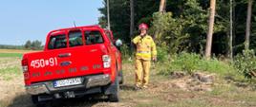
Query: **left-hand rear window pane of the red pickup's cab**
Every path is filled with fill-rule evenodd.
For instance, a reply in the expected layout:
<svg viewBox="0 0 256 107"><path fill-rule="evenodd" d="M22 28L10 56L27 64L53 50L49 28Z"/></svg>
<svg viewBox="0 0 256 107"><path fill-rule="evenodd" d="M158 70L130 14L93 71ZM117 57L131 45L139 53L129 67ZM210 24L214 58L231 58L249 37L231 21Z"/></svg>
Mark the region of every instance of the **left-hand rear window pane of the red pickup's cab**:
<svg viewBox="0 0 256 107"><path fill-rule="evenodd" d="M48 49L57 49L67 47L67 39L65 35L51 36Z"/></svg>

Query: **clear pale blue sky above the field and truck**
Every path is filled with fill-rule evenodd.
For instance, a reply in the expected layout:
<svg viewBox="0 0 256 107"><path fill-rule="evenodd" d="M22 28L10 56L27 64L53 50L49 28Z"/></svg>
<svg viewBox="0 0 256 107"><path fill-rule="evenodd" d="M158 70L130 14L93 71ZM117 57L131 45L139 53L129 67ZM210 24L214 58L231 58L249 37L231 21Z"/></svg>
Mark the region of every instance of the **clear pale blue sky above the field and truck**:
<svg viewBox="0 0 256 107"><path fill-rule="evenodd" d="M0 45L45 44L49 31L96 25L102 0L0 0Z"/></svg>

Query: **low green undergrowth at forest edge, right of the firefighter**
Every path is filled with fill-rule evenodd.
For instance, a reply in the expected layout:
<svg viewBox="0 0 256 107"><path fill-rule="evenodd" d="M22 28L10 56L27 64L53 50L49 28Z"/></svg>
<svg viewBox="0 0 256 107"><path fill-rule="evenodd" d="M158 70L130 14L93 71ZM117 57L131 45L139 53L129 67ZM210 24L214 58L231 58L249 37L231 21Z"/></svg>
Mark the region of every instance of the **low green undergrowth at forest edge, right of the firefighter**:
<svg viewBox="0 0 256 107"><path fill-rule="evenodd" d="M195 71L205 71L225 75L234 73L234 68L229 63L220 62L217 59L207 61L199 54L181 52L181 54L172 57L168 69L161 71L160 74L166 75L174 71L184 71L187 74L192 74Z"/></svg>

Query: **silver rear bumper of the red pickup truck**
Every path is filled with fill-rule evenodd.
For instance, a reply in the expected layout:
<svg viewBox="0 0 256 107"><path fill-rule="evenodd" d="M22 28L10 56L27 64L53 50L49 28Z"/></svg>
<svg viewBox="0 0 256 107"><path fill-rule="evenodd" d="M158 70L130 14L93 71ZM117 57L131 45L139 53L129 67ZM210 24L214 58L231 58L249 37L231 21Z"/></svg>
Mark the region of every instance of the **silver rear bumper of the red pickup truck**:
<svg viewBox="0 0 256 107"><path fill-rule="evenodd" d="M26 86L26 91L31 95L53 94L67 90L73 91L77 89L89 89L97 86L106 86L111 83L111 78L108 74L85 76L81 77L81 79L83 81L82 84L58 88L53 87L53 81L33 83L30 86Z"/></svg>

